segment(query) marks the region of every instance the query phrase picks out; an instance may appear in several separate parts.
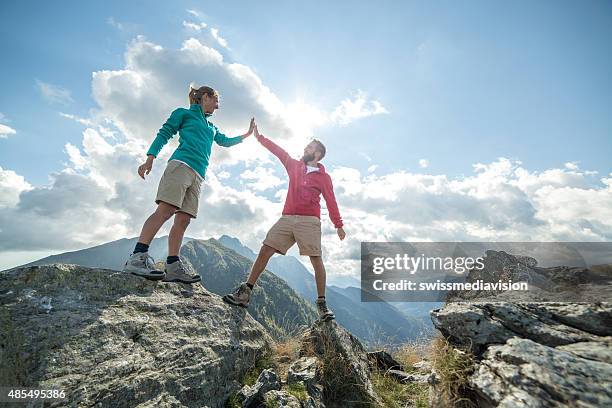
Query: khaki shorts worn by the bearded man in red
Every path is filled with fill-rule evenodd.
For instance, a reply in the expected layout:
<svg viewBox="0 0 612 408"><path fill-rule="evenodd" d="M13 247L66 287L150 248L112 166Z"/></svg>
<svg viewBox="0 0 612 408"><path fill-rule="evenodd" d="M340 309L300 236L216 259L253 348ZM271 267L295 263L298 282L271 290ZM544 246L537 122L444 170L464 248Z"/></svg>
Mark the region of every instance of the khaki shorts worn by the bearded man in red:
<svg viewBox="0 0 612 408"><path fill-rule="evenodd" d="M297 242L300 255L321 256L321 220L312 215L283 215L270 228L264 245L285 255Z"/></svg>

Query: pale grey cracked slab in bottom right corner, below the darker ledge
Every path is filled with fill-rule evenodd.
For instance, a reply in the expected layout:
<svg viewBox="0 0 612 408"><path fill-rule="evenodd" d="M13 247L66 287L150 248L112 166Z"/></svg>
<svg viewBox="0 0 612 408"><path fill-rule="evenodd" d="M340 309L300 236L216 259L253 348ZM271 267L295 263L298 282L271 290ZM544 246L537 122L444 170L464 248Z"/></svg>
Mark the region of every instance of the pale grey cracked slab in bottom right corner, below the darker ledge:
<svg viewBox="0 0 612 408"><path fill-rule="evenodd" d="M612 364L528 339L489 347L470 383L479 406L612 406Z"/></svg>

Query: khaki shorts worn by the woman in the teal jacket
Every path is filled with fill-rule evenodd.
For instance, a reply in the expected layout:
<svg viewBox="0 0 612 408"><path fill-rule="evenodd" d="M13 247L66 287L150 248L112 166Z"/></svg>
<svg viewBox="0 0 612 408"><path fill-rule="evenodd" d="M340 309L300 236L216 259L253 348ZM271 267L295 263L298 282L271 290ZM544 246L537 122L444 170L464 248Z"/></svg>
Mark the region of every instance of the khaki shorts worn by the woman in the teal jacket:
<svg viewBox="0 0 612 408"><path fill-rule="evenodd" d="M198 215L202 178L196 172L176 160L170 160L159 180L155 203L160 201L175 206L195 218Z"/></svg>

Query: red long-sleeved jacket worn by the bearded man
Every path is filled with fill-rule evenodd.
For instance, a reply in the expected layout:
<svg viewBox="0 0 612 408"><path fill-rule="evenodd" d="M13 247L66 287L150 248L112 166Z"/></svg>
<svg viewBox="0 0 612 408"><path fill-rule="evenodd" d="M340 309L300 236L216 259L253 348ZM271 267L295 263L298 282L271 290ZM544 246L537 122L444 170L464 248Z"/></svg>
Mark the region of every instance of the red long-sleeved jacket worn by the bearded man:
<svg viewBox="0 0 612 408"><path fill-rule="evenodd" d="M325 167L319 163L319 171L306 174L306 163L289 156L282 147L270 139L259 135L259 143L278 157L287 169L289 175L289 191L285 199L283 215L314 215L321 218L321 194L327 204L329 218L336 228L342 227L342 218L336 204L334 187L331 177L325 172Z"/></svg>

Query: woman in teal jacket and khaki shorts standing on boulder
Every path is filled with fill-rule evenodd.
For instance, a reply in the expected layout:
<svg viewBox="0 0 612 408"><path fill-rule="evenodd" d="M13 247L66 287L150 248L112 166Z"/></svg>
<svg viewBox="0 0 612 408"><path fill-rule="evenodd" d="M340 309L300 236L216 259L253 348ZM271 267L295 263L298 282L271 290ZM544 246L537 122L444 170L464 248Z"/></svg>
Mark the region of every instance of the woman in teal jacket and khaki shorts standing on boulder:
<svg viewBox="0 0 612 408"><path fill-rule="evenodd" d="M175 109L170 118L159 130L157 137L147 152L147 161L138 168L142 179L151 172L153 160L176 132L179 132L179 146L174 151L159 182L155 203L157 209L145 221L134 252L125 263L124 272L142 276L150 280L165 282L195 283L200 276L188 271L178 254L185 230L196 218L200 187L206 175L206 168L213 141L220 146L234 146L248 137L255 127L251 119L249 130L242 136L227 137L208 121L219 108L219 94L214 89L203 86L191 88L190 108ZM168 258L165 271L159 271L148 254L149 244L161 226L174 215L174 223L168 235Z"/></svg>

